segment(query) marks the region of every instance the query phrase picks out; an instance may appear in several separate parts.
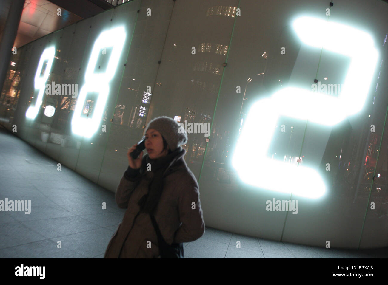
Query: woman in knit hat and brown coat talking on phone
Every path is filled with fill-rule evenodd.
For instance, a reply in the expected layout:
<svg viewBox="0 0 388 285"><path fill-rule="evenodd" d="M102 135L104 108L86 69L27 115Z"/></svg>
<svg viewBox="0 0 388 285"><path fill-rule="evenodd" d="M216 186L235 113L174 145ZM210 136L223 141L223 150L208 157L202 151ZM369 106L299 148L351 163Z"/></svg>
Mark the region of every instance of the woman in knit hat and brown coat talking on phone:
<svg viewBox="0 0 388 285"><path fill-rule="evenodd" d="M145 132L145 149L137 159L128 150L128 169L116 190L126 208L104 258L181 258L183 242L205 230L199 186L184 160L184 131L170 117L157 117Z"/></svg>

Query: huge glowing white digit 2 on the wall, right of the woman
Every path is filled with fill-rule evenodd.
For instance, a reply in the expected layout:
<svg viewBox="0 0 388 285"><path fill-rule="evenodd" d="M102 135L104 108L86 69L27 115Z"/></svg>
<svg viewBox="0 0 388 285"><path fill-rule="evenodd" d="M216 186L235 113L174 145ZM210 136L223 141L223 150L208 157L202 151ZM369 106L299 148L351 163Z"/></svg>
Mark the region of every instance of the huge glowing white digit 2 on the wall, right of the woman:
<svg viewBox="0 0 388 285"><path fill-rule="evenodd" d="M322 177L313 168L285 164L267 157L280 116L333 126L359 112L365 104L378 52L367 33L335 22L300 17L293 23L307 45L350 57L350 67L339 97L286 87L259 100L249 110L234 151L232 165L242 181L268 190L318 198L326 193ZM360 79L361 76L361 79ZM255 152L246 155L246 145Z"/></svg>

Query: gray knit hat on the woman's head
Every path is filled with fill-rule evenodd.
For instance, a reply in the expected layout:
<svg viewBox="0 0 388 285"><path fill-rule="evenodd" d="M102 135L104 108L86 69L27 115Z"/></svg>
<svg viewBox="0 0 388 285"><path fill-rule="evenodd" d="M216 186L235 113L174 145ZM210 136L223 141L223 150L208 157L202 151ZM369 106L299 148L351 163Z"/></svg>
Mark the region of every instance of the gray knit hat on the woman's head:
<svg viewBox="0 0 388 285"><path fill-rule="evenodd" d="M180 126L177 121L170 117L161 116L152 119L149 123L145 132L149 129L157 130L163 138L165 138L168 147L171 151L176 150L181 145L187 143L187 135L185 132L178 132Z"/></svg>

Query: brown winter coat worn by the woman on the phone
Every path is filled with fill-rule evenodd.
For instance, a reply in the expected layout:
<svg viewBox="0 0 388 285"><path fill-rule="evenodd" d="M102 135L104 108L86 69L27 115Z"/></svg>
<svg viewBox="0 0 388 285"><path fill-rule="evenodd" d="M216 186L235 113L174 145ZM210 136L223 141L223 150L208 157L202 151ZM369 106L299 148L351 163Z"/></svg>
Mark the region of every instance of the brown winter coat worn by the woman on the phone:
<svg viewBox="0 0 388 285"><path fill-rule="evenodd" d="M185 153L174 157L165 170L163 192L154 214L168 244L194 241L205 230L199 186L184 160ZM139 199L148 192L152 177L151 171L145 171L143 176L139 174L131 180L124 176L121 178L116 190L116 203L127 210L107 246L104 258L159 257L158 237L151 218L149 214L139 213L138 205ZM195 209L192 209L193 202Z"/></svg>

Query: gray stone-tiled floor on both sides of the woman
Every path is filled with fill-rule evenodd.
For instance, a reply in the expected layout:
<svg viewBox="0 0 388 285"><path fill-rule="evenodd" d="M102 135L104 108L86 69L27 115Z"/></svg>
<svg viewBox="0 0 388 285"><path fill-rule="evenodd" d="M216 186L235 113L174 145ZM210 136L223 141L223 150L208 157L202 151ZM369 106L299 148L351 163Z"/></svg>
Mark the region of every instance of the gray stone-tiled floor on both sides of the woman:
<svg viewBox="0 0 388 285"><path fill-rule="evenodd" d="M40 161L31 164L26 161ZM49 162L49 163L47 163ZM43 165L47 164L47 165ZM49 164L52 164L51 166ZM31 200L31 214L0 212L0 258L102 258L123 218L114 193L83 178L0 126L0 200ZM101 201L107 209L101 209ZM61 248L58 248L58 242ZM237 248L240 241L241 248ZM185 258L373 258L387 249L339 250L206 228Z"/></svg>

